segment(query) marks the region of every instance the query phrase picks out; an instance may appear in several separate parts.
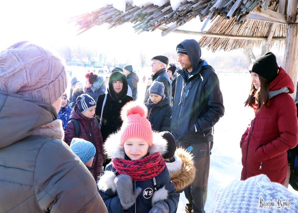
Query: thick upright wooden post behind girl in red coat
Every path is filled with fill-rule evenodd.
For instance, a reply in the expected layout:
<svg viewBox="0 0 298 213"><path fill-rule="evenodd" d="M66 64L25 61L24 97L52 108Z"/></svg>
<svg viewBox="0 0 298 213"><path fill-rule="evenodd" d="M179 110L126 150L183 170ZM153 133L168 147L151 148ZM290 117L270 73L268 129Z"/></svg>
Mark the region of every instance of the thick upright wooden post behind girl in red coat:
<svg viewBox="0 0 298 213"><path fill-rule="evenodd" d="M283 68L291 77L294 83L294 93L291 94L295 100L297 74L298 74L298 25L289 24L287 27L286 49L283 61Z"/></svg>

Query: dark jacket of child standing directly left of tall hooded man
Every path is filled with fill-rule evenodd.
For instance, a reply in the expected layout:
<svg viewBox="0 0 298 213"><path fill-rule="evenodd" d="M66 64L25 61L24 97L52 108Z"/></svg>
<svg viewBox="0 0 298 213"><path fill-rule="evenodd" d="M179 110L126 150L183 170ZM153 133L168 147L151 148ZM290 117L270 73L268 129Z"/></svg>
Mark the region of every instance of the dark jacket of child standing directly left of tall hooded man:
<svg viewBox="0 0 298 213"><path fill-rule="evenodd" d="M169 104L169 98L161 100L159 103L154 104L151 99L145 104L148 109L147 119L151 123L152 130L161 132L171 132L171 115L172 107Z"/></svg>

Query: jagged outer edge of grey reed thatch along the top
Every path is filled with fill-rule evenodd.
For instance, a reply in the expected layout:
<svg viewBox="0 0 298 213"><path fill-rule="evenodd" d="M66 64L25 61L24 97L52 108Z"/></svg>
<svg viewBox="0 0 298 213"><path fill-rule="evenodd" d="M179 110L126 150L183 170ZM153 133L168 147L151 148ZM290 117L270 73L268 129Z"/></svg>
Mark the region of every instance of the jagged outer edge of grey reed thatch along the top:
<svg viewBox="0 0 298 213"><path fill-rule="evenodd" d="M95 25L108 23L111 28L126 22L133 23L133 28L137 32L153 31L161 25L170 23L181 26L196 16L199 16L201 21L205 18L212 20L217 16L223 16L227 19L234 18L234 21L241 24L249 12L257 7L267 9L268 4L269 0L185 0L173 11L170 2L161 7L149 4L141 8L127 3L125 12L110 5L76 16L71 21L76 21L77 25L80 25L80 33Z"/></svg>

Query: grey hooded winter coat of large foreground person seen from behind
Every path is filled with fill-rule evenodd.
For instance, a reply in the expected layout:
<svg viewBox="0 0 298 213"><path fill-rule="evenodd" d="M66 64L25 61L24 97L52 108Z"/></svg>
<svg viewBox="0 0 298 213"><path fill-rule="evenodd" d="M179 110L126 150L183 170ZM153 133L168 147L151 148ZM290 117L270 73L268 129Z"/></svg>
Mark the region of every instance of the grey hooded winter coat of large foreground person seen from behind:
<svg viewBox="0 0 298 213"><path fill-rule="evenodd" d="M0 91L0 212L107 212L87 167L66 143L33 136L57 119L43 101Z"/></svg>

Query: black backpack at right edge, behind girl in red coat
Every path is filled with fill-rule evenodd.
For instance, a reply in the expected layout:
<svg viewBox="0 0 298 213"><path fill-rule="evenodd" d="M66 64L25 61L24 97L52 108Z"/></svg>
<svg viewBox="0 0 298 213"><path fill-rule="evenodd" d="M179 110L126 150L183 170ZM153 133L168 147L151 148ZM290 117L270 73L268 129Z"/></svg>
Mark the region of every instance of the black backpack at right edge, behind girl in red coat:
<svg viewBox="0 0 298 213"><path fill-rule="evenodd" d="M296 107L298 108L298 101L296 102ZM298 109L297 109L298 118ZM298 146L288 151L288 162L290 163L291 175L289 184L293 189L298 191Z"/></svg>

